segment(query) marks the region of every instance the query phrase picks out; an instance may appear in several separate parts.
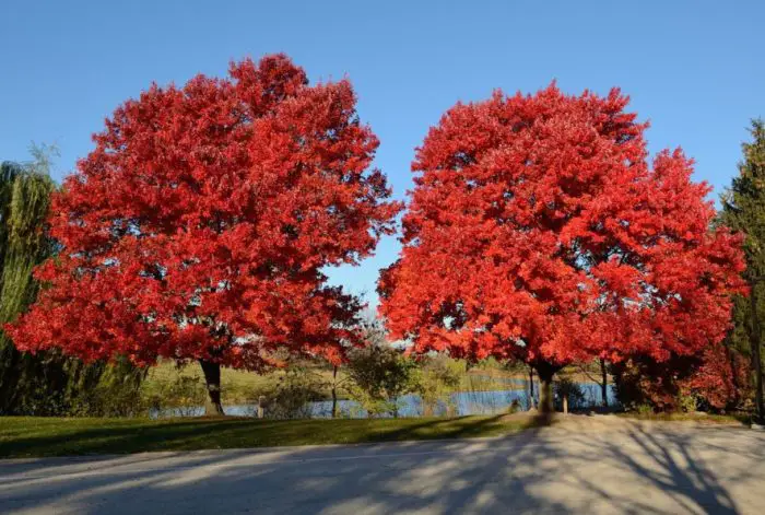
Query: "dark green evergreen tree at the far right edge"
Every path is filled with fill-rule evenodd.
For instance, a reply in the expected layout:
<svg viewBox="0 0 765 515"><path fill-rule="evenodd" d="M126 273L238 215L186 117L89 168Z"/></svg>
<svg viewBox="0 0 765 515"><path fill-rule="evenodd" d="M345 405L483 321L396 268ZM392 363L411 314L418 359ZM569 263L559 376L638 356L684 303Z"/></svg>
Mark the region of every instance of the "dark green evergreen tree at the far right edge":
<svg viewBox="0 0 765 515"><path fill-rule="evenodd" d="M765 122L752 121L752 141L742 144L739 176L722 195L720 221L745 234L745 278L752 288L750 300L739 297L733 307L733 329L728 341L733 350L752 356L755 402L762 414L762 325L765 320ZM752 316L752 315L755 316ZM756 341L758 346L752 346Z"/></svg>

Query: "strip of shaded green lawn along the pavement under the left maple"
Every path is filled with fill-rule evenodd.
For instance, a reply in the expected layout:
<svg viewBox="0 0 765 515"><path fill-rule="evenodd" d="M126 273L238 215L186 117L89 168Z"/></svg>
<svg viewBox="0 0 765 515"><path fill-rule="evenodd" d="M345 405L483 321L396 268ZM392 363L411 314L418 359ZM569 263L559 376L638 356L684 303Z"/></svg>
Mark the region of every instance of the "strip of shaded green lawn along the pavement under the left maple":
<svg viewBox="0 0 765 515"><path fill-rule="evenodd" d="M499 436L532 425L495 417L257 420L0 418L0 458Z"/></svg>

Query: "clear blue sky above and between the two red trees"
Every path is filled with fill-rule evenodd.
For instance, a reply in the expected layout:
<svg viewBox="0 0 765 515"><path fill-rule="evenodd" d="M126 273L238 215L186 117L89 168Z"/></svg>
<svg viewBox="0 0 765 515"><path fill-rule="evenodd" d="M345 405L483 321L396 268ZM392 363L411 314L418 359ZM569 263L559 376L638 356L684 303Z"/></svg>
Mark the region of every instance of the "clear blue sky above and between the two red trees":
<svg viewBox="0 0 765 515"><path fill-rule="evenodd" d="M49 1L0 4L0 160L56 143L60 180L104 117L152 81L225 73L284 51L313 81L350 77L396 196L427 128L458 100L501 87L613 85L651 121L652 152L681 145L716 192L737 173L749 119L765 116L763 1ZM375 301L384 241L331 280Z"/></svg>

